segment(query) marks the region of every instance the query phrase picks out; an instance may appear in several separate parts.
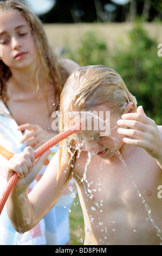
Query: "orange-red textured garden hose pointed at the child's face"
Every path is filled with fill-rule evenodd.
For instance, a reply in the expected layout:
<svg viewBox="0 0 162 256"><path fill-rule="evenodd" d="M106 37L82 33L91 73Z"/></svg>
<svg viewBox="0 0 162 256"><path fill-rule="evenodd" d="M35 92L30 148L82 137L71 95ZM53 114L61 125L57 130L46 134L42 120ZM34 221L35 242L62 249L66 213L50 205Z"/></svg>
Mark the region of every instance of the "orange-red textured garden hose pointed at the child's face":
<svg viewBox="0 0 162 256"><path fill-rule="evenodd" d="M63 139L69 137L73 133L75 133L77 131L80 131L80 130L81 130L81 125L77 124L77 125L74 125L74 126L70 127L68 130L59 133L59 135L56 135L54 138L50 139L48 142L44 143L43 145L41 145L41 147L39 147L38 149L36 149L34 151L35 159L37 159L45 151L47 151L48 149L50 149L51 147L53 147L57 143L61 142ZM4 191L3 191L2 196L0 198L0 215L1 215L1 212L4 208L4 205L7 202L7 199L8 199L8 197L9 197L11 191L12 191L12 188L15 186L18 179L19 179L19 176L17 175L17 173L14 173L11 176L7 186L4 188Z"/></svg>

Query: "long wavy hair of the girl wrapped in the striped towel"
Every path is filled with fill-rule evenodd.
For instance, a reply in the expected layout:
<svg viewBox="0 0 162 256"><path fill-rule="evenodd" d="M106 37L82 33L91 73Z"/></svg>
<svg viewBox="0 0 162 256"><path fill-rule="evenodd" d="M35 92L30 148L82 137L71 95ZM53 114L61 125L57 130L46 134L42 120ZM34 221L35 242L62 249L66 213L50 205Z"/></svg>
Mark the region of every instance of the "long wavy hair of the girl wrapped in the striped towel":
<svg viewBox="0 0 162 256"><path fill-rule="evenodd" d="M44 87L46 88L46 82L50 81L54 84L55 95L59 95L60 97L62 87L66 82L69 74L67 70L63 68L63 66L60 64L60 61L51 50L51 47L48 44L47 36L44 33L42 22L35 14L31 12L28 5L23 1L0 1L0 14L12 10L20 11L21 15L25 18L25 20L27 20L28 26L31 29L31 35L34 38L38 53L36 70L41 63L44 70ZM36 70L34 71L35 74ZM5 105L7 105L8 101L6 83L10 77L10 69L2 61L0 61L0 99L5 103ZM36 81L36 83L38 88L38 81Z"/></svg>

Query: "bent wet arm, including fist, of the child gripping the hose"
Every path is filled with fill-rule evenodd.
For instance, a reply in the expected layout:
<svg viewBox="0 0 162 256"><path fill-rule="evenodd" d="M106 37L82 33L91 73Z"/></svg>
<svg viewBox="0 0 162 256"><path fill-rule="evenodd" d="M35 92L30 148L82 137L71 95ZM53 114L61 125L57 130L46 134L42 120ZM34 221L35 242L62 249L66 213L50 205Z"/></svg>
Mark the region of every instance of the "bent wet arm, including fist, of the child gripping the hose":
<svg viewBox="0 0 162 256"><path fill-rule="evenodd" d="M66 164L66 160L64 160L58 185L56 178L59 169L59 156L56 153L41 180L28 194L28 187L36 178L49 152L44 153L34 164L34 150L28 147L23 153L16 154L7 166L8 178L13 171L21 175L7 201L10 222L19 233L33 228L54 206L66 187L70 176L69 164ZM62 171L64 169L67 172Z"/></svg>

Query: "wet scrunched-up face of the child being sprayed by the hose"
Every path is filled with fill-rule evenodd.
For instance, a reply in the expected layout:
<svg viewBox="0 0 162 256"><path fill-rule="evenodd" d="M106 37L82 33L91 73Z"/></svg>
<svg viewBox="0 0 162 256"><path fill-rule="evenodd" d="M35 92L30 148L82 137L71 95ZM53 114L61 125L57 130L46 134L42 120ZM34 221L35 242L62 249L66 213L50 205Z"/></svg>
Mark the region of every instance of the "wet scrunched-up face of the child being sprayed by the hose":
<svg viewBox="0 0 162 256"><path fill-rule="evenodd" d="M98 106L95 111L92 109L91 113L93 118L92 114L81 114L82 130L74 135L76 145L81 150L98 155L102 159L109 159L114 155L115 150L119 150L123 145L123 137L117 132L119 126L116 122L120 118L115 117L112 109L106 106Z"/></svg>

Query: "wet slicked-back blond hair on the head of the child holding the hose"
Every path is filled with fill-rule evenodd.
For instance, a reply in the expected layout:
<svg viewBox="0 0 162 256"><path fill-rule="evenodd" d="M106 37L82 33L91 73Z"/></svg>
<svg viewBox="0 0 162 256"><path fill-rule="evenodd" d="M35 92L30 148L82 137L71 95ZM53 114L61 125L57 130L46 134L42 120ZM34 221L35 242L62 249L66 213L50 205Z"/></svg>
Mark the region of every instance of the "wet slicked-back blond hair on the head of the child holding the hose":
<svg viewBox="0 0 162 256"><path fill-rule="evenodd" d="M121 76L103 65L85 66L75 69L69 76L61 93L61 112L90 111L99 105L112 108L112 113L121 116L127 104L137 101L129 92Z"/></svg>

